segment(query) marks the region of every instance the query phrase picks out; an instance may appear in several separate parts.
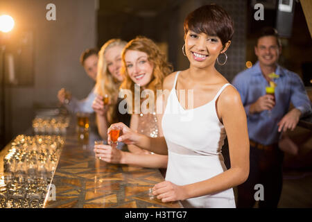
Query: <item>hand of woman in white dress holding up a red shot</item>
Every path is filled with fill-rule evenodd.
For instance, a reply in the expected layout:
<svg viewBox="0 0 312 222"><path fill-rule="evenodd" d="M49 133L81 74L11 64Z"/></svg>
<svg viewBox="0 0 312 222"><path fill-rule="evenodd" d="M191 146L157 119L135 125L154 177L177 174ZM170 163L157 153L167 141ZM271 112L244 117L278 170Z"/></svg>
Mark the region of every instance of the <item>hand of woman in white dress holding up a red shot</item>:
<svg viewBox="0 0 312 222"><path fill-rule="evenodd" d="M139 133L136 133L134 130L129 128L128 126L125 126L125 123L114 123L110 126L110 128L107 129L107 142L110 144L110 131L112 128L116 128L120 130L120 135L118 137L118 142L123 142L127 145L135 145L137 142L139 142L139 139L141 138L141 135Z"/></svg>

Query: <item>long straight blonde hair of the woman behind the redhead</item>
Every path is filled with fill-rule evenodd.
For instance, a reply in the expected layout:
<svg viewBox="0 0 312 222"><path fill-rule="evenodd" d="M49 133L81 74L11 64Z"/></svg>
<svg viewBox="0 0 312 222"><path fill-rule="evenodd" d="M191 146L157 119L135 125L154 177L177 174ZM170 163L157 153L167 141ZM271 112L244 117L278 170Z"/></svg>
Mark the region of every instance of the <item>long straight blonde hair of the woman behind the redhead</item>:
<svg viewBox="0 0 312 222"><path fill-rule="evenodd" d="M116 103L118 101L119 86L121 83L116 80L107 69L107 61L105 53L114 46L125 46L127 42L120 39L112 39L105 42L101 50L98 52L98 74L96 76L96 94L104 96L107 94L110 98L110 106L106 113L108 123L116 122Z"/></svg>

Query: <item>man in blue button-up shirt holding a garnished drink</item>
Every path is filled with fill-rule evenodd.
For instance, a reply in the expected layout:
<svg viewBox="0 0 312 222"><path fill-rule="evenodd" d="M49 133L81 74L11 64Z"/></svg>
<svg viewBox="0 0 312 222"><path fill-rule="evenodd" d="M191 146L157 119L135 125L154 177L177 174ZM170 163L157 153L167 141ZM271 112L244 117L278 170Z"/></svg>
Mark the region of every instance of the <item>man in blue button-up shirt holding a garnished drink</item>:
<svg viewBox="0 0 312 222"><path fill-rule="evenodd" d="M293 130L302 115L311 112L311 103L300 77L277 64L281 42L274 28L263 28L254 52L258 62L233 80L248 117L250 137L250 175L238 187L237 206L253 207L254 186L261 184L264 200L260 199L259 207L277 207L284 159L279 138L282 132ZM275 96L266 94L270 82L275 83ZM291 103L294 108L289 110Z"/></svg>

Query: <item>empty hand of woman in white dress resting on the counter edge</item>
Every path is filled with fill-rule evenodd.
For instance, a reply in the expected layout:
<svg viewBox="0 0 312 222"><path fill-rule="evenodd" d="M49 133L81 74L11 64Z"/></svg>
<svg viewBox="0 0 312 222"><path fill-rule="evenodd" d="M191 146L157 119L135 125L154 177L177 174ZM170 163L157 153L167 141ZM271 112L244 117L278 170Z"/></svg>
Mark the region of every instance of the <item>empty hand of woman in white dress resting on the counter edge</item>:
<svg viewBox="0 0 312 222"><path fill-rule="evenodd" d="M170 181L159 182L153 187L153 195L162 202L171 202L187 199L187 194L183 186L175 185Z"/></svg>

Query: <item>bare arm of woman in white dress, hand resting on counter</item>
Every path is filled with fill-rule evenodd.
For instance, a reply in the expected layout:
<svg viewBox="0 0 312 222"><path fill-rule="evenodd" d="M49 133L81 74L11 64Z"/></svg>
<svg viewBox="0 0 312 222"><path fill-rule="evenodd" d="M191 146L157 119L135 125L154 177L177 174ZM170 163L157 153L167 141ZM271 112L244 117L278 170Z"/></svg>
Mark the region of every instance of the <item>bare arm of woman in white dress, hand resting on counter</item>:
<svg viewBox="0 0 312 222"><path fill-rule="evenodd" d="M249 139L246 114L239 93L233 87L227 87L216 103L218 116L227 133L231 168L213 178L190 185L177 186L169 181L161 182L155 185L153 194L158 195L157 198L163 202L214 194L236 187L247 180Z"/></svg>

